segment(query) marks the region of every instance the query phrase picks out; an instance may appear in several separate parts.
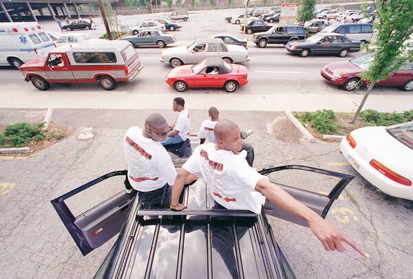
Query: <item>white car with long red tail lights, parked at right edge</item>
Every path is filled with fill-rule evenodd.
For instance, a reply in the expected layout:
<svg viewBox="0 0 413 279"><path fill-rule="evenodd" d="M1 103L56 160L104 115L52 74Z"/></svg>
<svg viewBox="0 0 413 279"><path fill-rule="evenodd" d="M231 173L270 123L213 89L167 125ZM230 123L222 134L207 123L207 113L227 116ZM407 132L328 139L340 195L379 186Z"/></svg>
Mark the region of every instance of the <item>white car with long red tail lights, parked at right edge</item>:
<svg viewBox="0 0 413 279"><path fill-rule="evenodd" d="M413 122L356 129L341 140L340 150L381 192L413 200Z"/></svg>

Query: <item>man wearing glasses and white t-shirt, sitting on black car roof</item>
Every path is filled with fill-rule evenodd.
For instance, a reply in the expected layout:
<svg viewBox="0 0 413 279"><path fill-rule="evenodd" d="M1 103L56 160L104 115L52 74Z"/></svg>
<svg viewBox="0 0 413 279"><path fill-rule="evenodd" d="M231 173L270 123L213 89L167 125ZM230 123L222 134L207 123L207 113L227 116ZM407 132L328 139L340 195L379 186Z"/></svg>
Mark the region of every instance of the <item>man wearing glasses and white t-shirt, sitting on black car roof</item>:
<svg viewBox="0 0 413 279"><path fill-rule="evenodd" d="M167 120L158 113L147 117L144 129L132 126L127 130L123 147L128 169L125 179L128 194L137 190L139 198L153 199L171 191L169 186L173 186L176 170L167 150L160 144L169 131ZM185 182L196 179L196 175L191 175Z"/></svg>

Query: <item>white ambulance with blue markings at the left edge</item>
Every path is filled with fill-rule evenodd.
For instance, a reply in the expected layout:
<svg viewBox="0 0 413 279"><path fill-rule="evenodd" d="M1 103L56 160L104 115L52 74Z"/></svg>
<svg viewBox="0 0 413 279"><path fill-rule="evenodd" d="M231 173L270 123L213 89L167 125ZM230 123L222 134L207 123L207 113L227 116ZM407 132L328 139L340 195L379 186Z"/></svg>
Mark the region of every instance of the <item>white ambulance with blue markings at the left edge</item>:
<svg viewBox="0 0 413 279"><path fill-rule="evenodd" d="M0 23L0 66L19 69L25 62L47 56L55 47L39 23Z"/></svg>

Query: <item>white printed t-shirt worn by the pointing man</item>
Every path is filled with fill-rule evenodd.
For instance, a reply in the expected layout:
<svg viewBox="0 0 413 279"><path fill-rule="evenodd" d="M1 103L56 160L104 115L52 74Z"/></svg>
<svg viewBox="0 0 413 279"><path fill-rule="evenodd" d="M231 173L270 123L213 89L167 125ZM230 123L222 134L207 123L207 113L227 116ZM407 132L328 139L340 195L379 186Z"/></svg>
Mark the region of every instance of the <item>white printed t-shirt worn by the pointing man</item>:
<svg viewBox="0 0 413 279"><path fill-rule="evenodd" d="M255 186L265 176L248 166L244 157L216 150L214 143L201 144L182 168L202 175L213 199L224 208L260 214L265 197Z"/></svg>

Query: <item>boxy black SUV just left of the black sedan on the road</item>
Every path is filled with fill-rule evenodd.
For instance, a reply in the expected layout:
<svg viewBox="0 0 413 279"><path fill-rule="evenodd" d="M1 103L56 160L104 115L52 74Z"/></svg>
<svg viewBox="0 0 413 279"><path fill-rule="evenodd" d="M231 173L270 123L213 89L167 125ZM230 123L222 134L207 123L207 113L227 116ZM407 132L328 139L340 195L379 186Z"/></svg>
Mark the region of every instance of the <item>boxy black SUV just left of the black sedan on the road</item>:
<svg viewBox="0 0 413 279"><path fill-rule="evenodd" d="M289 41L303 40L306 31L298 25L275 25L268 32L254 34L253 42L257 47L266 47L268 44L286 45Z"/></svg>

